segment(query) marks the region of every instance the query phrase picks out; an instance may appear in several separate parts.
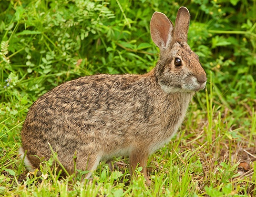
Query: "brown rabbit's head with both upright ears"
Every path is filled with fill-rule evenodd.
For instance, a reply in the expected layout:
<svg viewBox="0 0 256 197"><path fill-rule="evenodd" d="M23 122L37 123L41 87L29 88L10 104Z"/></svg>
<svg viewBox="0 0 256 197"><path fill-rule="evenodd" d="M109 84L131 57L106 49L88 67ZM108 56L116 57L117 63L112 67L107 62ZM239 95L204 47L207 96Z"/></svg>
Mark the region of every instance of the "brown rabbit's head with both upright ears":
<svg viewBox="0 0 256 197"><path fill-rule="evenodd" d="M181 7L175 28L161 12L155 12L150 22L151 37L160 49L156 78L167 93L195 92L205 88L205 70L187 44L189 20L189 11Z"/></svg>

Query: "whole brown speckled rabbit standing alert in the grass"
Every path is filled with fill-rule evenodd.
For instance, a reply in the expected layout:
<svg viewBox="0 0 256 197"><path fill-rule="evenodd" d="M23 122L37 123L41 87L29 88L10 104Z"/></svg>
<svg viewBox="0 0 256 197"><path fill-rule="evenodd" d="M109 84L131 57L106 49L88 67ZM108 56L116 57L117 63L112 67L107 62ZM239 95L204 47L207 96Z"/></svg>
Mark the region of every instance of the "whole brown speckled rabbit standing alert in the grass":
<svg viewBox="0 0 256 197"><path fill-rule="evenodd" d="M69 173L90 171L101 160L128 156L130 168L142 167L181 126L196 91L205 89L206 73L187 44L190 14L178 10L173 23L161 12L150 22L160 49L154 69L143 75L97 74L51 89L31 106L21 130L20 156L30 171L51 157L51 145ZM61 169L61 168L60 168ZM131 173L132 174L132 173Z"/></svg>

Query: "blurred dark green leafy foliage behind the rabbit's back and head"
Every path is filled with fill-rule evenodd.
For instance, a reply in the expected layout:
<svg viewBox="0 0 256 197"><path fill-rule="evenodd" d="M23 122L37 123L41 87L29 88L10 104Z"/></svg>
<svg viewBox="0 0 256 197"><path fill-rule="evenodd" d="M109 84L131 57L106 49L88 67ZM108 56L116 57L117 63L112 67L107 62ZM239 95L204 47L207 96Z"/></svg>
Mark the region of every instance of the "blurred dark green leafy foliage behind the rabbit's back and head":
<svg viewBox="0 0 256 197"><path fill-rule="evenodd" d="M247 0L10 0L0 5L0 95L35 100L94 73L144 73L157 61L154 11L191 13L189 40L226 97L255 97L256 2ZM17 91L16 91L17 90ZM228 98L227 98L228 99ZM230 98L230 102L232 99Z"/></svg>

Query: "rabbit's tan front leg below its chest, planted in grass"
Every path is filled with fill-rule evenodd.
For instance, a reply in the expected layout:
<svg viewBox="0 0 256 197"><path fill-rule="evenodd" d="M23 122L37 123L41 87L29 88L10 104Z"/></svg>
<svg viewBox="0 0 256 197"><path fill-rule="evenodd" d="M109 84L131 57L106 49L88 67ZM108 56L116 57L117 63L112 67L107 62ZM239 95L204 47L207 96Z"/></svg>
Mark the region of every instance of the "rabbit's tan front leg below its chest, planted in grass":
<svg viewBox="0 0 256 197"><path fill-rule="evenodd" d="M132 151L132 153L130 154L129 160L130 160L132 175L134 175L134 169L136 169L136 167L142 167L142 174L146 179L147 185L149 186L151 184L151 180L147 176L148 156L149 156L148 151L144 151L143 148L137 148Z"/></svg>

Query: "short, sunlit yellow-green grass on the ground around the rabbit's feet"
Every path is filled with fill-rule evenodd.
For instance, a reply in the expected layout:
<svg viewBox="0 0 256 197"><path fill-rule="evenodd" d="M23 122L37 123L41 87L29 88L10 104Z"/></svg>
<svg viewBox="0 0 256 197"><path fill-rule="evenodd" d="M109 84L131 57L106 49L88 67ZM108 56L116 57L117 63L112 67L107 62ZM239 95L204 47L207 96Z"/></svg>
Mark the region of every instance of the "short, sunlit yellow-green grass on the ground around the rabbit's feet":
<svg viewBox="0 0 256 197"><path fill-rule="evenodd" d="M148 170L153 181L150 187L145 185L139 169L136 171L138 178L129 184L126 158L113 159L113 172L107 164L101 163L92 179L85 183L79 178L74 179L74 175L58 179L59 175L50 168L52 160L42 167L41 176L27 173L17 157L22 122L14 122L4 133L8 139L4 140L1 136L0 193L6 196L254 196L256 151L254 139L250 140L251 134L245 128L246 122L253 123L255 119L246 111L243 116L240 115L240 124L234 124L233 113L227 111L227 114L222 114L225 107L214 103L214 90L209 95L206 95L207 92L209 90L198 97L207 98L209 105L198 110L197 103L192 102L181 131L149 158ZM241 103L237 108L244 108L243 105ZM253 113L255 116L255 111ZM4 119L1 126L4 127L9 120ZM18 131L17 136L12 135L13 130ZM238 167L245 161L250 161L251 165L247 172Z"/></svg>

